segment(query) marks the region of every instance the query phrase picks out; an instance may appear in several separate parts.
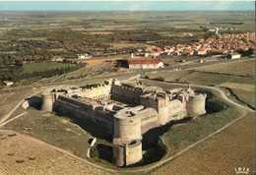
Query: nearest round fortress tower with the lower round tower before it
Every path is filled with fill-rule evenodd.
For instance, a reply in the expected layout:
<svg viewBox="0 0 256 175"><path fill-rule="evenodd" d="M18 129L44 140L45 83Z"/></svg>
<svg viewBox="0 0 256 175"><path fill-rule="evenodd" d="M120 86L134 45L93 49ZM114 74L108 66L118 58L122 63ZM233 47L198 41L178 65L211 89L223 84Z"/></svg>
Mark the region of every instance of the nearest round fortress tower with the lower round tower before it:
<svg viewBox="0 0 256 175"><path fill-rule="evenodd" d="M128 166L142 160L141 118L129 110L114 115L113 162Z"/></svg>

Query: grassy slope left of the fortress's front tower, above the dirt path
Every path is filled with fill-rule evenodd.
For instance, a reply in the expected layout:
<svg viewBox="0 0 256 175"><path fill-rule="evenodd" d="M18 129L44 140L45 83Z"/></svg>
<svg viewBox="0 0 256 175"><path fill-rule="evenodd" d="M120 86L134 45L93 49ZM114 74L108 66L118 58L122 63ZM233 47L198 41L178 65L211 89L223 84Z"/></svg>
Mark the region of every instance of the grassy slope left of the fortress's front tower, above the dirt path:
<svg viewBox="0 0 256 175"><path fill-rule="evenodd" d="M91 136L72 124L68 118L32 108L24 116L8 123L5 128L61 147L83 158L87 157Z"/></svg>

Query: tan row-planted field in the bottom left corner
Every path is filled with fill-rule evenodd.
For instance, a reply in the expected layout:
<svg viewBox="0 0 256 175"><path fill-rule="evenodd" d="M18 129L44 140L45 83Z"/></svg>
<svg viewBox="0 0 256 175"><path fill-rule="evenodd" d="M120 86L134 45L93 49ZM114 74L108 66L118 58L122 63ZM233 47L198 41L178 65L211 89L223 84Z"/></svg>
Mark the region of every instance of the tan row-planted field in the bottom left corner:
<svg viewBox="0 0 256 175"><path fill-rule="evenodd" d="M0 131L0 174L108 174L25 135Z"/></svg>

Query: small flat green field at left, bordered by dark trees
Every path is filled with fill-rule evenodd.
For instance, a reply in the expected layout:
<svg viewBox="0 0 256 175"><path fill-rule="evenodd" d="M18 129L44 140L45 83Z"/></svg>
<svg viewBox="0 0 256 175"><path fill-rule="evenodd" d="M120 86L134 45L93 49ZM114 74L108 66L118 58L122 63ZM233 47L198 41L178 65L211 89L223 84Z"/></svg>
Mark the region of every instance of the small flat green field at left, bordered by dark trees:
<svg viewBox="0 0 256 175"><path fill-rule="evenodd" d="M75 66L69 63L45 62L45 63L30 63L24 64L24 73L32 74L34 71L48 71L56 68L67 68Z"/></svg>

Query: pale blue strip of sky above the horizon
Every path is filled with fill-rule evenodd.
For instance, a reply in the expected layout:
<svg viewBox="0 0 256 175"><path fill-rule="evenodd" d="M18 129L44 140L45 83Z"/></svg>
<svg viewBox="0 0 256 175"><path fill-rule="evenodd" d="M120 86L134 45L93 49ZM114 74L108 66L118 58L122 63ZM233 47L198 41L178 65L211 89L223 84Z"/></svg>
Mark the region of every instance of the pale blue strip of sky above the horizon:
<svg viewBox="0 0 256 175"><path fill-rule="evenodd" d="M0 11L254 11L254 1L2 1Z"/></svg>

